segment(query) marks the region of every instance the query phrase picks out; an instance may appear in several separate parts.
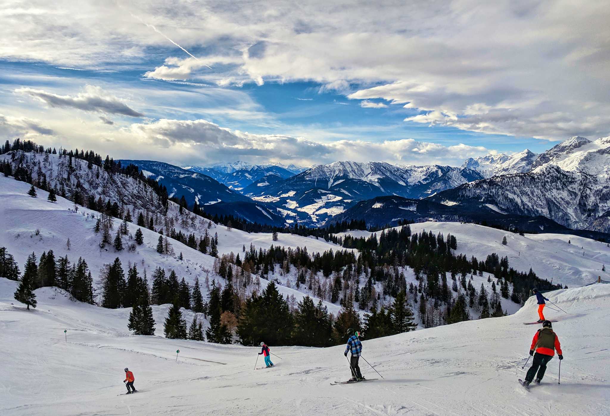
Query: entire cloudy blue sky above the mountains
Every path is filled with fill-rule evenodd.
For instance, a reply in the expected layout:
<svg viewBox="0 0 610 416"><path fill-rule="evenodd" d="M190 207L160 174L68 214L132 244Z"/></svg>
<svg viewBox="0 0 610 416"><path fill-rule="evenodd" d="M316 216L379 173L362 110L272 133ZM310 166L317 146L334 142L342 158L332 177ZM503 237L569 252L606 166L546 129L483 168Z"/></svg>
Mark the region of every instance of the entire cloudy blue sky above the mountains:
<svg viewBox="0 0 610 416"><path fill-rule="evenodd" d="M610 130L593 4L69 5L3 10L2 139L176 164L456 165Z"/></svg>

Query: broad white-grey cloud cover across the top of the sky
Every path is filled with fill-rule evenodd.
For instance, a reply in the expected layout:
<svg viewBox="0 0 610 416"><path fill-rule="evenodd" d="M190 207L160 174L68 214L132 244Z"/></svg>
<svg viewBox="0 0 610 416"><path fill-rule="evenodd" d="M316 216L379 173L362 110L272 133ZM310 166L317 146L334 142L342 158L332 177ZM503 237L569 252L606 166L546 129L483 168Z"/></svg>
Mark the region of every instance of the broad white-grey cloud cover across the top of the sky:
<svg viewBox="0 0 610 416"><path fill-rule="evenodd" d="M217 85L312 80L320 91L428 113L408 122L429 124L432 114L475 132L561 139L610 130L603 1L279 1L264 13L246 0L71 5L5 7L0 57ZM168 53L178 58L157 66Z"/></svg>

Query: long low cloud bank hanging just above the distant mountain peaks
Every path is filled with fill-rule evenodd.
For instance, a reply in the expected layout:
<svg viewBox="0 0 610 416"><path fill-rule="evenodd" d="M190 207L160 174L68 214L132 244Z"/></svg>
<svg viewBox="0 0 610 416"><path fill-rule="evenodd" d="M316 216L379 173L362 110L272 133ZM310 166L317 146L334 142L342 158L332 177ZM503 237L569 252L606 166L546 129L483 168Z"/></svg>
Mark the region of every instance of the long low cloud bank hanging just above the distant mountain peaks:
<svg viewBox="0 0 610 416"><path fill-rule="evenodd" d="M414 139L320 143L303 137L240 132L202 119L161 119L148 124L137 123L132 124L125 133L137 138L137 147L159 152L165 159L171 155L181 163L239 159L258 163L282 160L285 163L311 165L336 160L368 161L372 158L397 164L440 163L457 166L465 158L489 153L483 146L443 146Z"/></svg>

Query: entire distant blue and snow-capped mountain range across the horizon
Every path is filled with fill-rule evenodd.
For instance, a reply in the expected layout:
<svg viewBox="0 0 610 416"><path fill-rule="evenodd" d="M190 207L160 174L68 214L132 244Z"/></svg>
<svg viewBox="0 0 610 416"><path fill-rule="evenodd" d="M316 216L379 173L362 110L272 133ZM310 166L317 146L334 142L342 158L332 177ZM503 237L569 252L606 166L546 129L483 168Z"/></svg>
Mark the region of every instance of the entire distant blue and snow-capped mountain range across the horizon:
<svg viewBox="0 0 610 416"><path fill-rule="evenodd" d="M395 196L452 207L426 211L431 217L475 211L481 214L476 218L543 216L563 227L609 232L609 155L610 138L574 136L540 154L489 154L468 158L460 167L338 161L303 170L237 161L182 169L132 162L161 177L170 192L184 195L189 204L198 200L207 204L206 211L270 224L320 227L350 215L359 218L355 210L362 201L372 201L372 206L379 197ZM384 220L413 217L403 208L385 206ZM377 212L370 211L371 219Z"/></svg>

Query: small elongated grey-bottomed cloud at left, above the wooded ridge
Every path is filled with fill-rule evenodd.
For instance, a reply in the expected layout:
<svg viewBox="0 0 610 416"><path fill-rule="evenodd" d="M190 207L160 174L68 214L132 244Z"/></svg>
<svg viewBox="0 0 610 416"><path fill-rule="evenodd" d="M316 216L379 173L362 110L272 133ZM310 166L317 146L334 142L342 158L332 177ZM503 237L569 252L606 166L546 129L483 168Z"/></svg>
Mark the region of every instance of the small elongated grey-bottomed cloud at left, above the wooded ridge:
<svg viewBox="0 0 610 416"><path fill-rule="evenodd" d="M96 111L129 117L144 116L117 97L110 96L99 86L87 85L84 88L84 92L78 93L76 96L62 96L44 90L34 90L33 88L18 88L14 92L32 97L50 107L77 108L82 111Z"/></svg>

